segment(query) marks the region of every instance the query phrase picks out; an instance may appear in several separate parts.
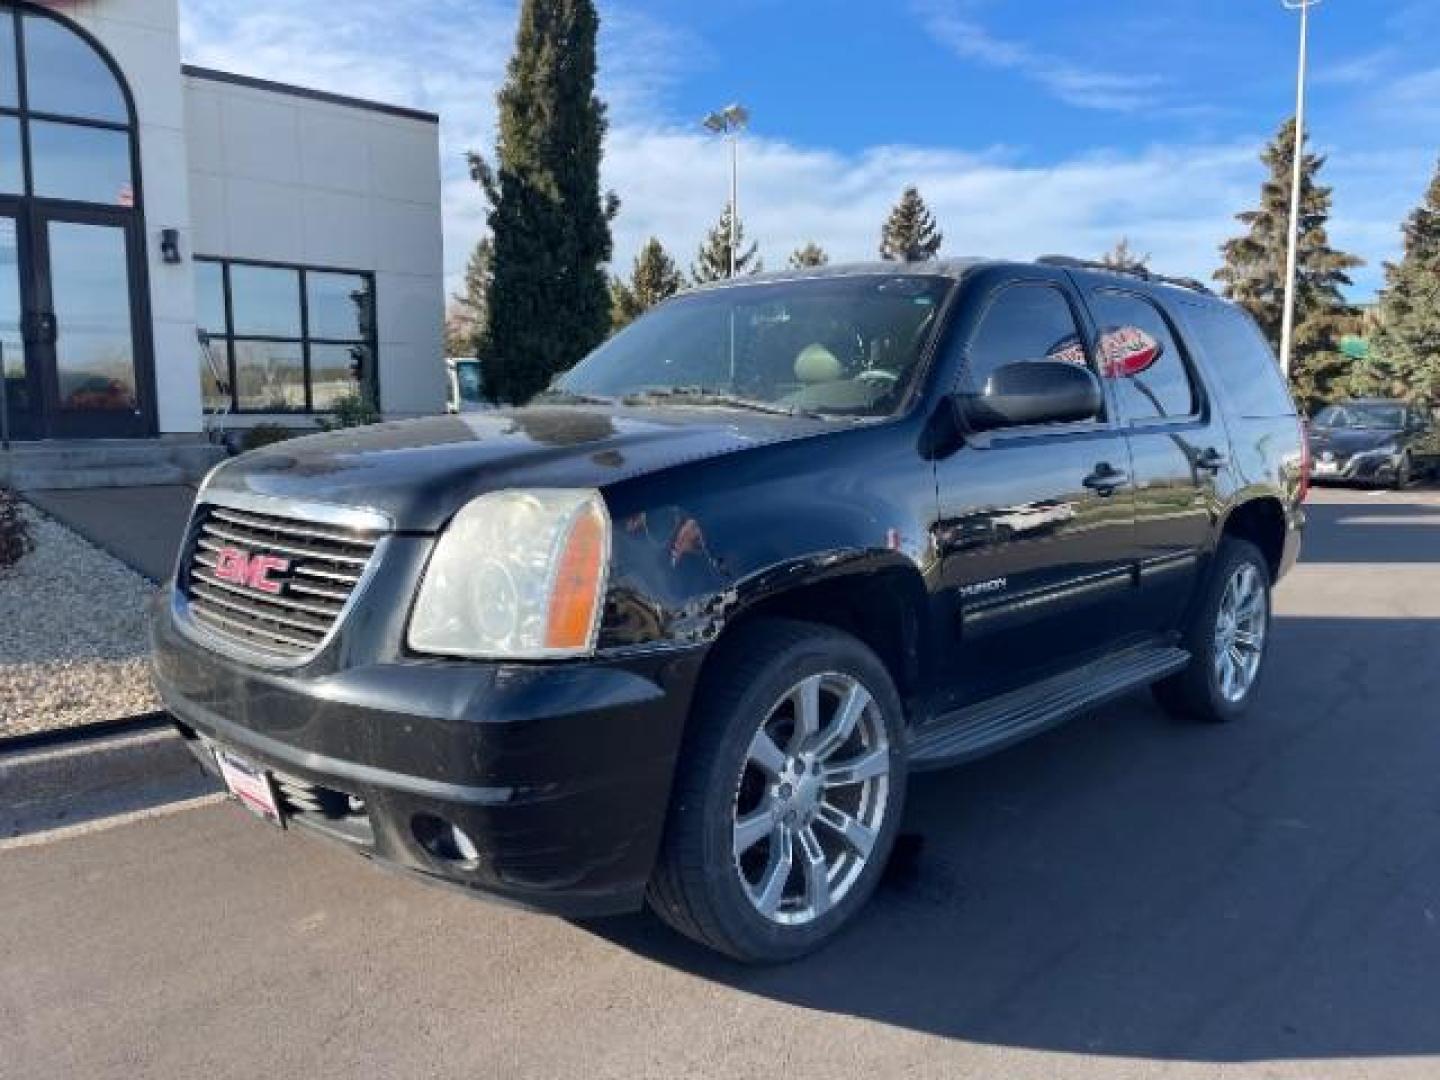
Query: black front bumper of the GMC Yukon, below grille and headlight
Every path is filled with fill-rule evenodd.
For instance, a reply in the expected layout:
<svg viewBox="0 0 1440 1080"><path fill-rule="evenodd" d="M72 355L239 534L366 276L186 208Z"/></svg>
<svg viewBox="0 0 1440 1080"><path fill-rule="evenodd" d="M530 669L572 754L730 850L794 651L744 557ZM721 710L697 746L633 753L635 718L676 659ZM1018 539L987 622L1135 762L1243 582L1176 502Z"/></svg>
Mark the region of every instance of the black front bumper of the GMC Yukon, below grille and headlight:
<svg viewBox="0 0 1440 1080"><path fill-rule="evenodd" d="M363 854L557 914L636 909L701 655L266 671L151 619L156 685L196 756L278 775L282 808ZM360 806L360 812L356 808ZM472 841L436 842L435 822Z"/></svg>

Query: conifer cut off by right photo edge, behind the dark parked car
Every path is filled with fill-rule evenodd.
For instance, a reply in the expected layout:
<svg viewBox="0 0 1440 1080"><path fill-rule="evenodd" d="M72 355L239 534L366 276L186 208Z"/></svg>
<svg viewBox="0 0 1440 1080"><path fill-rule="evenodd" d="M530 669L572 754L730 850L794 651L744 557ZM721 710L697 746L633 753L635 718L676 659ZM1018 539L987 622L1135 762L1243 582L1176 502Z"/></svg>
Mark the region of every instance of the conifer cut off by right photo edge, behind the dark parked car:
<svg viewBox="0 0 1440 1080"><path fill-rule="evenodd" d="M1440 168L1405 219L1405 252L1385 264L1380 330L1352 390L1434 403L1440 399Z"/></svg>

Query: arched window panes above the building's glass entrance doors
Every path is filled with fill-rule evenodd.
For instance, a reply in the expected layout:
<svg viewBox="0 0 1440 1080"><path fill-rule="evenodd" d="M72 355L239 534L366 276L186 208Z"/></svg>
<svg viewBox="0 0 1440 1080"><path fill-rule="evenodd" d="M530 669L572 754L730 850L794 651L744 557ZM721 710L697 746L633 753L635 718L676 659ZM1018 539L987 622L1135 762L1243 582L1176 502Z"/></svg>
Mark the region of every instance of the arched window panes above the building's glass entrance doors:
<svg viewBox="0 0 1440 1080"><path fill-rule="evenodd" d="M0 4L0 194L134 206L132 135L124 84L84 35Z"/></svg>

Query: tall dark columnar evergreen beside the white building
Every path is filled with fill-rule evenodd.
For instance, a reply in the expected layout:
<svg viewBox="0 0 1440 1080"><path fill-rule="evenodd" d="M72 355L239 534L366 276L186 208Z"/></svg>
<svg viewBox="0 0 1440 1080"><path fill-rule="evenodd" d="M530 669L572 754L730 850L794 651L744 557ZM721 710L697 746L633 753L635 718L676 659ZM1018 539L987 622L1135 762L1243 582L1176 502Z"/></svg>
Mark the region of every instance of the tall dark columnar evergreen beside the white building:
<svg viewBox="0 0 1440 1080"><path fill-rule="evenodd" d="M611 327L605 264L619 209L600 194L593 0L523 0L500 91L497 166L469 156L491 203L485 392L526 402Z"/></svg>

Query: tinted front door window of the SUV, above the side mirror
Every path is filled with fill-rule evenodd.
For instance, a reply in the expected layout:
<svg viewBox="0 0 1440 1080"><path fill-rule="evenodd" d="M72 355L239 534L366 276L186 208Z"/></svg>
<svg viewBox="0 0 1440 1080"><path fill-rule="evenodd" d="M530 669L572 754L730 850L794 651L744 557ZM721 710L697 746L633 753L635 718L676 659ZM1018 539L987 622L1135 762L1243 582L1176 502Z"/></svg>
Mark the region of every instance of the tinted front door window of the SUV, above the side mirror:
<svg viewBox="0 0 1440 1080"><path fill-rule="evenodd" d="M960 383L979 392L1001 364L1018 360L1068 360L1084 364L1080 327L1066 295L1054 285L1009 285L991 301L966 350Z"/></svg>

